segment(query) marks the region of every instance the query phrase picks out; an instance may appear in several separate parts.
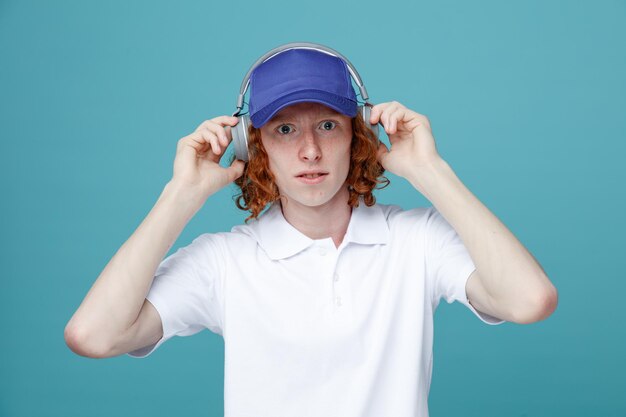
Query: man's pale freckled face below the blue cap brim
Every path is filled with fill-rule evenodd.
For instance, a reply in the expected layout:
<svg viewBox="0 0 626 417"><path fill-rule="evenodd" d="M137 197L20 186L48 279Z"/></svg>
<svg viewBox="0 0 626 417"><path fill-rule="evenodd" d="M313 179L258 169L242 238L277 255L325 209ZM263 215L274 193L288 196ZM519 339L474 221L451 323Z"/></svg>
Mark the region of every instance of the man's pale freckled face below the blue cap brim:
<svg viewBox="0 0 626 417"><path fill-rule="evenodd" d="M280 194L292 209L348 201L350 117L323 104L297 103L261 127L261 140Z"/></svg>

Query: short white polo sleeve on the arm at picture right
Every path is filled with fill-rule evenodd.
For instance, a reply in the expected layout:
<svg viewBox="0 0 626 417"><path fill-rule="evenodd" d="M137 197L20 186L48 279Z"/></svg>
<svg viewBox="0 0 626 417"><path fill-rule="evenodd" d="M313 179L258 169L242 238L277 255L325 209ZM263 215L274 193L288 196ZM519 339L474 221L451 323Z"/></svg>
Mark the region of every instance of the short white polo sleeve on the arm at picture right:
<svg viewBox="0 0 626 417"><path fill-rule="evenodd" d="M431 290L433 310L441 298L447 303L458 301L487 324L501 324L504 320L482 313L467 299L465 285L476 269L472 258L456 230L431 207L426 222L426 278Z"/></svg>

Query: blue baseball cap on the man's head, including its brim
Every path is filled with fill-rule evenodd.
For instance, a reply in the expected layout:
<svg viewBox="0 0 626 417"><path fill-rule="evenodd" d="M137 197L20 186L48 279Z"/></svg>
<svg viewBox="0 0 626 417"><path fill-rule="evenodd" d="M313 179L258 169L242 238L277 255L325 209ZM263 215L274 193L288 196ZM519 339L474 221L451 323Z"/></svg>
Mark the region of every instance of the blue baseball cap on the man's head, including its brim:
<svg viewBox="0 0 626 417"><path fill-rule="evenodd" d="M341 58L311 49L290 49L252 71L248 103L252 126L260 128L282 108L303 102L321 103L356 116L356 94Z"/></svg>

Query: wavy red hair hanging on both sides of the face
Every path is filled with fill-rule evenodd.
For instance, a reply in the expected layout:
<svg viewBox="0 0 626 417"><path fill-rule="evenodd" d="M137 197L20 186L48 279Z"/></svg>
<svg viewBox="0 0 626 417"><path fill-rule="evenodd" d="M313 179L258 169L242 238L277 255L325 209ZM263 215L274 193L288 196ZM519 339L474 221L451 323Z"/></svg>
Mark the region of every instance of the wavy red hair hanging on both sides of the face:
<svg viewBox="0 0 626 417"><path fill-rule="evenodd" d="M374 132L357 114L352 118L352 144L350 145L350 170L346 178L346 185L350 192L348 205L357 207L362 197L367 206L376 203L374 189L389 185L387 177L383 176L385 169L377 159L378 144ZM235 204L241 210L250 211L246 222L255 219L265 207L280 198L274 175L269 169L267 152L261 141L261 131L250 125L248 129L249 161L246 163L243 175L235 180L241 192L235 195Z"/></svg>

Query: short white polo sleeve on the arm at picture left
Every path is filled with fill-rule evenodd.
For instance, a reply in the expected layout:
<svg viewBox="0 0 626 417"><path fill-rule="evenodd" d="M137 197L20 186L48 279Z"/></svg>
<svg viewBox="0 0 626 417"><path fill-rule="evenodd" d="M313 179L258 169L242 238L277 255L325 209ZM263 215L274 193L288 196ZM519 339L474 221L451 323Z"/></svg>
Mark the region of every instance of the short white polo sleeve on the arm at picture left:
<svg viewBox="0 0 626 417"><path fill-rule="evenodd" d="M204 234L165 258L146 299L158 311L163 337L127 355L143 358L173 336L191 336L207 328L222 334L223 260L214 236Z"/></svg>

